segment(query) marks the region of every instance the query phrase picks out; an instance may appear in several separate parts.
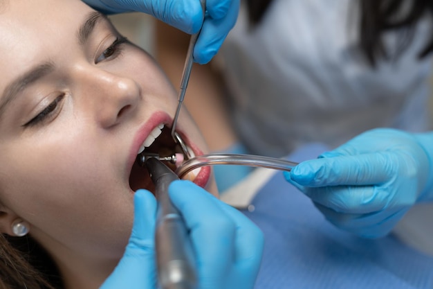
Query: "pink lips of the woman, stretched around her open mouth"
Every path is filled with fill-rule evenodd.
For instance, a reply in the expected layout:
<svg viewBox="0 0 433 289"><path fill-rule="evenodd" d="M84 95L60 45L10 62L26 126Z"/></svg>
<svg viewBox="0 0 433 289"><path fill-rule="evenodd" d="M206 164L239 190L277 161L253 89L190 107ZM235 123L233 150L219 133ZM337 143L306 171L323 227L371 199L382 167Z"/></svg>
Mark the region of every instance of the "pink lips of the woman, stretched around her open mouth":
<svg viewBox="0 0 433 289"><path fill-rule="evenodd" d="M141 144L149 136L150 132L154 128L156 128L156 126L159 125L160 123L171 124L172 121L173 121L172 118L167 113L156 112L152 114L150 119L138 129L138 132L136 132L136 136L133 139L133 143L129 153L129 160L127 166L129 168L128 172L132 170L133 163L136 161L137 152ZM190 148L192 148L195 155L203 155L203 152L193 143L190 143L189 139L187 139L187 137L185 137L185 135L180 130L178 130L178 132L181 134L182 138L187 143L187 145L190 146ZM205 166L201 168L199 174L196 176L196 179L194 180L194 183L204 188L206 184L208 184L209 182L210 171L211 170L209 166Z"/></svg>

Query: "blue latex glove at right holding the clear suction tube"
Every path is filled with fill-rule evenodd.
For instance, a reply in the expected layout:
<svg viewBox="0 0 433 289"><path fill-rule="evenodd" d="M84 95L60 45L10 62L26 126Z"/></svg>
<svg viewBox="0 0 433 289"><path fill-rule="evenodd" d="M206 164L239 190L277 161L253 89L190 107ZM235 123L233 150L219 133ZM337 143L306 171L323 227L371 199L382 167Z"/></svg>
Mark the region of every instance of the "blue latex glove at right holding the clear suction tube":
<svg viewBox="0 0 433 289"><path fill-rule="evenodd" d="M433 200L432 160L432 132L376 129L284 176L334 225L377 238L416 202Z"/></svg>

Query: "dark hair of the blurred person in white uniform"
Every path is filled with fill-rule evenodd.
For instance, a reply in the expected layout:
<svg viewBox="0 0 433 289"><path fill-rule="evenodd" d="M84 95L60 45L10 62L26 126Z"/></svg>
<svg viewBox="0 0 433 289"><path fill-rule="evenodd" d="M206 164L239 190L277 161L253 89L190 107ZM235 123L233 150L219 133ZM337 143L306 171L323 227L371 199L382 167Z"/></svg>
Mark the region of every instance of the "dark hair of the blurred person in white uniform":
<svg viewBox="0 0 433 289"><path fill-rule="evenodd" d="M250 25L254 27L263 19L272 0L246 2ZM433 14L431 0L359 0L356 4L360 6L360 49L372 66L378 58L398 57L410 44L416 22L427 13L430 17ZM398 45L394 51L387 51L382 36L396 29L401 29ZM424 58L432 50L433 35L430 40L426 40L426 45L419 51L418 57Z"/></svg>

